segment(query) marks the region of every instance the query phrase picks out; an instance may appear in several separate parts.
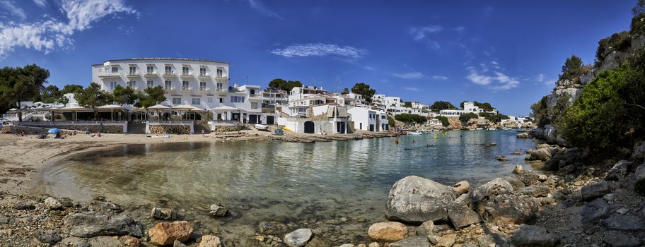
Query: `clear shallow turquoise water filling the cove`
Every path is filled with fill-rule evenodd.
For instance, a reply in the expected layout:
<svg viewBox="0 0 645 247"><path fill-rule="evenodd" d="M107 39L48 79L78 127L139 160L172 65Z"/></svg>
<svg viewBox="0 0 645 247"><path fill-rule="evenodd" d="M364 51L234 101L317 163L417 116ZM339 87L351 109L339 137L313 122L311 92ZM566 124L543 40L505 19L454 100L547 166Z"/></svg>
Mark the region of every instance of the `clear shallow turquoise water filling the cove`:
<svg viewBox="0 0 645 247"><path fill-rule="evenodd" d="M252 236L260 220L302 227L344 217L340 226L314 225L339 244L365 239L369 224L383 220L390 187L405 176L448 185L508 176L511 164L524 164L524 155L511 152L534 146L515 135L449 131L402 136L400 145L395 138L124 145L59 161L43 171L43 184L47 193L78 200L105 195L117 203L158 205L163 199L231 238ZM203 208L212 203L230 207L233 217L204 217Z"/></svg>

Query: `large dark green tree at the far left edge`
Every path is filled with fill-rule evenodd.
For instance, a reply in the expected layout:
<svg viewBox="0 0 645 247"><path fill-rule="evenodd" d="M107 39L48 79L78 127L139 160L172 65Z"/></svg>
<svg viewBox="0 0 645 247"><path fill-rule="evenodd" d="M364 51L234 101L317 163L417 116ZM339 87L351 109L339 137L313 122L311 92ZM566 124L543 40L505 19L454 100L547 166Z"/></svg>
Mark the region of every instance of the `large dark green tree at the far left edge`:
<svg viewBox="0 0 645 247"><path fill-rule="evenodd" d="M0 110L18 107L21 101L38 100L50 71L35 64L0 69Z"/></svg>

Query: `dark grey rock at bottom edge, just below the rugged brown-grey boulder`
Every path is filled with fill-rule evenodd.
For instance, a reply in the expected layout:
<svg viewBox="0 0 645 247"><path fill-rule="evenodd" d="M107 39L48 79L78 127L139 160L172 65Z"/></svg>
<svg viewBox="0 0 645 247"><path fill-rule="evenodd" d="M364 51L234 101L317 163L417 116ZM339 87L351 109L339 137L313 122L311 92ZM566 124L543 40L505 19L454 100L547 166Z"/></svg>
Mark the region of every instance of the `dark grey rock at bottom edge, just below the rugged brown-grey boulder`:
<svg viewBox="0 0 645 247"><path fill-rule="evenodd" d="M548 247L556 246L559 237L550 234L544 227L522 224L511 236L511 242L518 247Z"/></svg>

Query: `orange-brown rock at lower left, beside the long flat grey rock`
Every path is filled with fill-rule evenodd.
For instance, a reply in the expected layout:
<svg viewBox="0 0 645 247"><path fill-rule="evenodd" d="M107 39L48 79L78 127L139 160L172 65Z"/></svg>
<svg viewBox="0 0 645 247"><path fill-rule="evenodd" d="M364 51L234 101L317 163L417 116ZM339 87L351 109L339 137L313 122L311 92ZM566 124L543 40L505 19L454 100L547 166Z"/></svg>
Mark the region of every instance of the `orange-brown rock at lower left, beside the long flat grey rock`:
<svg viewBox="0 0 645 247"><path fill-rule="evenodd" d="M192 226L187 221L157 223L148 231L150 242L158 245L168 245L178 240L186 241L192 236Z"/></svg>

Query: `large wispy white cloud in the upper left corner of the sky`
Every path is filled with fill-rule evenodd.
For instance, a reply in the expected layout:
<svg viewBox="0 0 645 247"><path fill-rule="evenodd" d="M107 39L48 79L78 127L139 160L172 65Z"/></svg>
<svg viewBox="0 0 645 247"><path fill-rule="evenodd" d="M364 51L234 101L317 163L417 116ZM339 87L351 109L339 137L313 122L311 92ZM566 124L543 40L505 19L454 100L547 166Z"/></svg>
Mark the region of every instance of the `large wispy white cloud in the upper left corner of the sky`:
<svg viewBox="0 0 645 247"><path fill-rule="evenodd" d="M45 54L57 48L66 48L73 42L71 35L92 28L96 21L117 13L138 14L122 0L62 0L60 9L67 21L54 18L35 23L8 23L0 26L0 56L25 47Z"/></svg>

